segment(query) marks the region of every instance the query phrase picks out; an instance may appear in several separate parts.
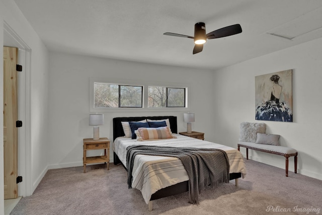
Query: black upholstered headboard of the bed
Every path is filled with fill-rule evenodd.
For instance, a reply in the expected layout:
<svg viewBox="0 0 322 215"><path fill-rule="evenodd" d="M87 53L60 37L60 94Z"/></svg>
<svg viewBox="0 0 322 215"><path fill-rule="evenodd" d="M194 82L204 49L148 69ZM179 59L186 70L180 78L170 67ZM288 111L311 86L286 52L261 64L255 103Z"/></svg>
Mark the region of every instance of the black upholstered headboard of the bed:
<svg viewBox="0 0 322 215"><path fill-rule="evenodd" d="M166 120L169 119L170 122L170 129L172 133L178 133L178 126L177 126L177 117L168 116L168 117L117 117L113 118L113 141L117 137L123 137L124 131L121 122L136 122L141 120Z"/></svg>

